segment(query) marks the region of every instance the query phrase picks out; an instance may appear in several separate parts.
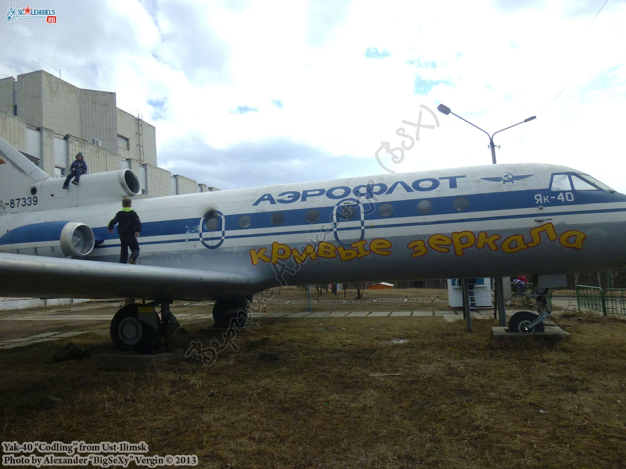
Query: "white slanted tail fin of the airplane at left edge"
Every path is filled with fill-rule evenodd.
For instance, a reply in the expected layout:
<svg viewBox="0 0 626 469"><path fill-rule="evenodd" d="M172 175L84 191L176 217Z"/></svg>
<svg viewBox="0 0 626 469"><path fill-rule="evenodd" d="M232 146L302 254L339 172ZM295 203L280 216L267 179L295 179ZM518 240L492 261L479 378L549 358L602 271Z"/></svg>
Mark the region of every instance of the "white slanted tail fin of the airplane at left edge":
<svg viewBox="0 0 626 469"><path fill-rule="evenodd" d="M32 200L33 185L45 179L50 176L0 138L0 215L13 212L11 204Z"/></svg>

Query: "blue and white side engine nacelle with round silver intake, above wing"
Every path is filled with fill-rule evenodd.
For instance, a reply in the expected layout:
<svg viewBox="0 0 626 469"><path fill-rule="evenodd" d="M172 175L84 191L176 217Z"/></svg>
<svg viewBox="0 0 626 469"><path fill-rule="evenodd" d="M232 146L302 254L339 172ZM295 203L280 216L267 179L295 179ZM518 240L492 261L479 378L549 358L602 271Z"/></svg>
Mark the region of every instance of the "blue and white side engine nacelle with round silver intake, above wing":
<svg viewBox="0 0 626 469"><path fill-rule="evenodd" d="M95 244L92 229L77 221L26 224L0 237L1 252L33 256L83 258Z"/></svg>

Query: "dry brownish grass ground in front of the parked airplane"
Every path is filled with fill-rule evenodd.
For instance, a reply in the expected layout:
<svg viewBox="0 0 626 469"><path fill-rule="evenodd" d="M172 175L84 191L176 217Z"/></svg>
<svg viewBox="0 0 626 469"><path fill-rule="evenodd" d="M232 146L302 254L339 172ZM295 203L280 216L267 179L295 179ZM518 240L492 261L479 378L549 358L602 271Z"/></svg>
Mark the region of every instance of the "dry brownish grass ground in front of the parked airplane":
<svg viewBox="0 0 626 469"><path fill-rule="evenodd" d="M267 319L212 366L157 370L44 365L58 345L41 343L0 352L0 431L143 440L151 455L197 454L207 468L624 467L626 325L575 316L556 344L494 343L487 320L466 333L438 318ZM185 326L179 340L208 345L207 323ZM280 360L257 359L270 350ZM41 395L64 405L40 410Z"/></svg>

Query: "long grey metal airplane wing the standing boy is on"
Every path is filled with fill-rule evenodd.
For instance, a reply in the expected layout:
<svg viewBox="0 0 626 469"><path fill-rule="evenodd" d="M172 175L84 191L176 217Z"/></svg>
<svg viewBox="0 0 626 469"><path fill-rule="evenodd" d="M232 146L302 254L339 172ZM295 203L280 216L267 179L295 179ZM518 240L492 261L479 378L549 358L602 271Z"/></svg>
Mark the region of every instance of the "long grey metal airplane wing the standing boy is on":
<svg viewBox="0 0 626 469"><path fill-rule="evenodd" d="M246 295L248 283L235 273L0 253L0 296L212 300Z"/></svg>

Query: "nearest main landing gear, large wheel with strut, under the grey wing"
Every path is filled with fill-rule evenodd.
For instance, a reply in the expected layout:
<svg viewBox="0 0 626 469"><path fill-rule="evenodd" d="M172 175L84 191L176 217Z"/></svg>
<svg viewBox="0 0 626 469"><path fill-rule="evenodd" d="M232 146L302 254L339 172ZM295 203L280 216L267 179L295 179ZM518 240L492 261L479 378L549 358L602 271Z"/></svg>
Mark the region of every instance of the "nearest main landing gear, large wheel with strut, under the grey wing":
<svg viewBox="0 0 626 469"><path fill-rule="evenodd" d="M174 351L172 333L179 324L172 311L171 301L156 300L141 305L123 306L111 320L110 333L113 345L121 351L150 353L158 349L163 337L168 351ZM161 307L161 317L155 306Z"/></svg>

